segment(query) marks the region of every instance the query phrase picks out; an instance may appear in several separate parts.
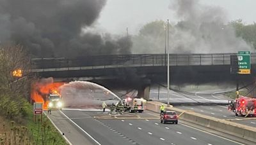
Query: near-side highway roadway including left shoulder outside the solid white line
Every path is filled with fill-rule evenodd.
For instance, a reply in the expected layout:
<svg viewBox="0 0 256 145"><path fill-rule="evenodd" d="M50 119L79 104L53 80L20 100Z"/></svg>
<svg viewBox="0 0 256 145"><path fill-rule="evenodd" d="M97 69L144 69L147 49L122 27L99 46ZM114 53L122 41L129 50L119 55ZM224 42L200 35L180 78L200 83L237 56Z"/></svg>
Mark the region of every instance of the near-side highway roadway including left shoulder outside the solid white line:
<svg viewBox="0 0 256 145"><path fill-rule="evenodd" d="M140 114L140 113L139 113ZM98 118L93 118L97 116ZM103 119L109 116L102 111L83 109L52 111L49 115L61 132L70 142L80 144L90 141L91 144L242 144L225 137L211 134L179 120L179 124L160 123L159 114L146 111L139 119L120 118ZM144 119L148 118L148 119ZM150 119L152 118L152 119ZM63 125L60 121L66 121ZM73 129L72 129L72 127ZM74 129L75 128L75 129ZM78 132L78 133L77 133ZM79 134L80 133L80 134ZM74 134L79 135L77 139ZM70 137L70 135L73 135ZM72 143L72 144L74 144ZM83 143L84 144L84 143ZM88 144L88 143L87 143Z"/></svg>

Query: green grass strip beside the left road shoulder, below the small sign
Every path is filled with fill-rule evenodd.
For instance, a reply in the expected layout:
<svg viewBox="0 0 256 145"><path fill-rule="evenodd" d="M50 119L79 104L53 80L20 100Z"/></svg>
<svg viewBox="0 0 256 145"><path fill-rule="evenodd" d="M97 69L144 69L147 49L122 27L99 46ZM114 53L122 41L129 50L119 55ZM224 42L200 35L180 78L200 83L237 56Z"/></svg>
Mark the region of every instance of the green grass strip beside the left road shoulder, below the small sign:
<svg viewBox="0 0 256 145"><path fill-rule="evenodd" d="M67 144L60 132L44 114L42 115L42 120L40 115L38 115L35 121L33 112L29 113L26 118L26 126L33 137L33 144Z"/></svg>

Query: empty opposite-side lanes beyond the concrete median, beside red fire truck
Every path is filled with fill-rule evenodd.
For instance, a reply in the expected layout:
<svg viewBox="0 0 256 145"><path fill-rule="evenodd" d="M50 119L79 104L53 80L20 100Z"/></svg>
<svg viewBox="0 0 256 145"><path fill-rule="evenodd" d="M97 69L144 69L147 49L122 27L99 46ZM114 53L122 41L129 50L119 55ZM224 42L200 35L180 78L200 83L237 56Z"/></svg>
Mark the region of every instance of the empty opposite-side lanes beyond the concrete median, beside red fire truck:
<svg viewBox="0 0 256 145"><path fill-rule="evenodd" d="M250 127L256 128L256 120L243 120L243 116L236 116L232 111L228 111L227 106L175 106L184 110L195 111L196 113L205 114L215 118L220 118L223 120L234 120L236 123L241 123L243 125L248 125ZM250 118L248 116L246 119ZM252 117L251 117L252 118Z"/></svg>

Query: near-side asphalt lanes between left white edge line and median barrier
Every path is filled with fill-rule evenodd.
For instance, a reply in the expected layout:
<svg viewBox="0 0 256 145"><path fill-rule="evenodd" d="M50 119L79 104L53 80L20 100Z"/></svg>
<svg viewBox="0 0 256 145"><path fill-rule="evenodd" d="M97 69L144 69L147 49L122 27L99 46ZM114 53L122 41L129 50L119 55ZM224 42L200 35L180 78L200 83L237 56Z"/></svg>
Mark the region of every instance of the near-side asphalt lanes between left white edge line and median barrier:
<svg viewBox="0 0 256 145"><path fill-rule="evenodd" d="M101 111L62 111L100 144L240 144L179 123L159 120L101 120ZM108 114L107 114L108 115ZM81 118L84 116L85 118ZM152 113L143 113L152 117ZM155 114L154 117L159 117Z"/></svg>

